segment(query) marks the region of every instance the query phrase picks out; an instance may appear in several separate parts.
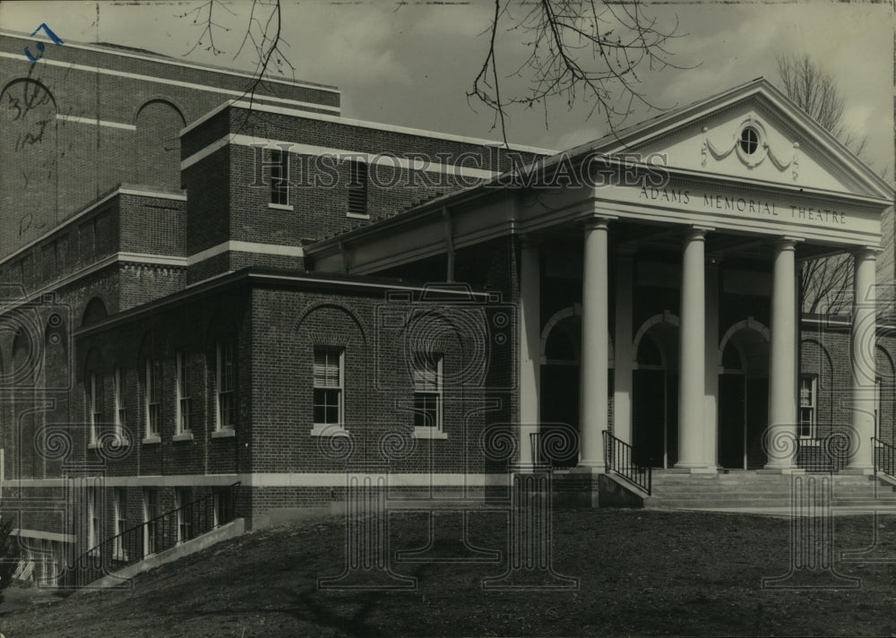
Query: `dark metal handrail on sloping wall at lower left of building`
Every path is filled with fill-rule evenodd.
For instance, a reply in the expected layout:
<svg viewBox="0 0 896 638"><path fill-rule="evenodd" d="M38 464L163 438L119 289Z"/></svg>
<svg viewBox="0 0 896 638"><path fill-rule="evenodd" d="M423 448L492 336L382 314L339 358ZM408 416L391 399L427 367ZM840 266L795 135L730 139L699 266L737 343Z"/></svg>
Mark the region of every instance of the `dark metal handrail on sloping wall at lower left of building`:
<svg viewBox="0 0 896 638"><path fill-rule="evenodd" d="M70 583L83 587L108 573L139 563L146 556L158 554L233 521L236 518L234 502L239 485L237 482L215 490L90 547L73 565L69 565ZM183 530L178 526L183 526Z"/></svg>

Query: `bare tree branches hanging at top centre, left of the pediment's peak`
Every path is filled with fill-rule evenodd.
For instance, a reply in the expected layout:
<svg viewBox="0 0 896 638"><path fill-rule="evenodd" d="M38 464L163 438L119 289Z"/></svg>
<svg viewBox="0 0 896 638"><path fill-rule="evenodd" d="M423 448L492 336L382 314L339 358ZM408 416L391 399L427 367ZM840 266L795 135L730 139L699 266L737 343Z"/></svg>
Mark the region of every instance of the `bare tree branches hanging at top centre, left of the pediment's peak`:
<svg viewBox="0 0 896 638"><path fill-rule="evenodd" d="M495 112L495 127L506 137L507 110L512 107L546 109L552 99L567 108L591 102L589 116L599 112L611 132L637 105L659 108L639 88L639 69L685 68L670 61L670 39L682 37L678 24L660 28L645 15L642 4L607 0L538 0L515 4L521 18L510 12L509 0L495 0L495 15L485 60L468 99ZM501 76L495 48L499 30L530 36L529 55L515 72L506 76L525 82L527 89L509 97L500 91ZM506 79L506 78L505 78Z"/></svg>

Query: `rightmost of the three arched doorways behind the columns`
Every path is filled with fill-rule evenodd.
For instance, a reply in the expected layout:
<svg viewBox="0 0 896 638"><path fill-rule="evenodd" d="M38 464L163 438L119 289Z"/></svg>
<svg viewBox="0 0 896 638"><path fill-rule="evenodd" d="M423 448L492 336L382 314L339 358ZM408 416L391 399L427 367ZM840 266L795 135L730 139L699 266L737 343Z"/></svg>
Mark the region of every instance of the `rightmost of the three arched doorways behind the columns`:
<svg viewBox="0 0 896 638"><path fill-rule="evenodd" d="M769 330L747 319L725 333L719 349L719 466L759 470L767 461Z"/></svg>

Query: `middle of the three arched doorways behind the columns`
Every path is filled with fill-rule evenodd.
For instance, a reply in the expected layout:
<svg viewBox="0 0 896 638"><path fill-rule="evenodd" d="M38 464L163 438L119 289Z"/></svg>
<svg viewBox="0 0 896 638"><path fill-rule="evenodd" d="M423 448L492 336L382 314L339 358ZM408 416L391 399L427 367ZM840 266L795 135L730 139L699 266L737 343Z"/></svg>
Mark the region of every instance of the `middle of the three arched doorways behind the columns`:
<svg viewBox="0 0 896 638"><path fill-rule="evenodd" d="M678 460L678 317L648 319L633 351L633 461L669 468Z"/></svg>

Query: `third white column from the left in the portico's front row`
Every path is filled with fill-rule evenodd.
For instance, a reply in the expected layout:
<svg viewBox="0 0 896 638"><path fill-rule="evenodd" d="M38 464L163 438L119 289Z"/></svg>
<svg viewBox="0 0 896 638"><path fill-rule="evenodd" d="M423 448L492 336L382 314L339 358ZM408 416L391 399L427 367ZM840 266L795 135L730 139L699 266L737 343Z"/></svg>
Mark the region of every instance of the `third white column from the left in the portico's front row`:
<svg viewBox="0 0 896 638"><path fill-rule="evenodd" d="M766 470L795 467L797 437L797 279L794 239L775 245L771 283L769 431Z"/></svg>

